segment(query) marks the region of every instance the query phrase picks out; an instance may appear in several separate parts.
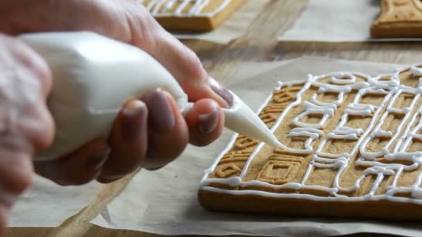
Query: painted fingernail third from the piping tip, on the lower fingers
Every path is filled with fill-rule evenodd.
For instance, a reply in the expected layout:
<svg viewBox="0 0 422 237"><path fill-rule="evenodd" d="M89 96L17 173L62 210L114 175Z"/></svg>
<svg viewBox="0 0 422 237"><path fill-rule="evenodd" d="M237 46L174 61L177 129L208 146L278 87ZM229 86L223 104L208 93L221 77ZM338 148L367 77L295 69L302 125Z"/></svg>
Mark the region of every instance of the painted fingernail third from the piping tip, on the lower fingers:
<svg viewBox="0 0 422 237"><path fill-rule="evenodd" d="M121 137L125 143L137 142L141 135L142 121L146 121L146 105L141 100L133 100L122 110Z"/></svg>

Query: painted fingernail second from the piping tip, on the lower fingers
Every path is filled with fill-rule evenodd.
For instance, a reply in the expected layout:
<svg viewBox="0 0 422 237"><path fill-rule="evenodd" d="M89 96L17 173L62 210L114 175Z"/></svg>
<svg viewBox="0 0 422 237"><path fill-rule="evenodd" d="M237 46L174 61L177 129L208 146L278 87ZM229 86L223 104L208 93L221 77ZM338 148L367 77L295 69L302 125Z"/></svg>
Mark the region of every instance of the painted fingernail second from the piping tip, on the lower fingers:
<svg viewBox="0 0 422 237"><path fill-rule="evenodd" d="M170 132L174 128L176 121L173 109L171 109L164 91L158 88L146 100L148 100L149 122L154 130L161 134Z"/></svg>

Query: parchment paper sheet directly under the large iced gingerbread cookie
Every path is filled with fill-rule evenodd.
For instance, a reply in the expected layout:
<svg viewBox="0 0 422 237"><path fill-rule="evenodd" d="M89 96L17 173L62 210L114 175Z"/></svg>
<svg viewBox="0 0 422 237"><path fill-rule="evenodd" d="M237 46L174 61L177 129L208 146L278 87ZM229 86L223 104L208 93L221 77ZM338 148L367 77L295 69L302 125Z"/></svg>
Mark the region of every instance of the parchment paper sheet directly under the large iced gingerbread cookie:
<svg viewBox="0 0 422 237"><path fill-rule="evenodd" d="M292 62L246 64L226 84L253 109L267 98L276 81L303 79L307 73L360 71L391 73L395 65L326 58L300 58ZM196 191L203 170L226 146L232 132L207 148L189 147L166 168L142 170L92 223L113 229L155 234L246 234L258 236L332 236L360 232L422 236L419 223L373 222L326 218L282 218L205 211Z"/></svg>

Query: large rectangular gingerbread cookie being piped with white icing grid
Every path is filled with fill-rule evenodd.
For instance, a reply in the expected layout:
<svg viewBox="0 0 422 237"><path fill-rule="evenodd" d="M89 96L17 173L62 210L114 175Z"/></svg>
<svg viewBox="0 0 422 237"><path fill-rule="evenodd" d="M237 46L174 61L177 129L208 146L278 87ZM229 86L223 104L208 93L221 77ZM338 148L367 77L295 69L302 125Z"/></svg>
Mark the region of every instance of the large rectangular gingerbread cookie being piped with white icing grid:
<svg viewBox="0 0 422 237"><path fill-rule="evenodd" d="M281 83L260 108L273 148L236 134L201 179L205 209L422 220L422 65Z"/></svg>

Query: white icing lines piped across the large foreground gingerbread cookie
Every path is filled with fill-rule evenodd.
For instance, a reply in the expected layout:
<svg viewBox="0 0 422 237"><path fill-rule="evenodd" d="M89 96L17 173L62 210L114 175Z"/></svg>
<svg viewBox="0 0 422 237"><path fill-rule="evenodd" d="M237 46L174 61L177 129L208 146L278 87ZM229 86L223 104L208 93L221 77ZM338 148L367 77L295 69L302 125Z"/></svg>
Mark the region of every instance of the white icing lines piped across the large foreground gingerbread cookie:
<svg viewBox="0 0 422 237"><path fill-rule="evenodd" d="M216 193L228 193L232 195L262 195L265 197L273 198L300 198L305 200L315 200L315 201L332 201L332 200L341 200L341 201L360 201L360 200L389 200L392 202L412 202L417 204L422 204L422 171L419 171L418 177L414 184L410 187L400 187L398 186L398 179L403 171L416 170L422 166L422 151L416 152L407 152L407 149L410 147L413 140L422 141L422 108L416 108L416 101L420 100L422 94L421 83L416 85L416 88L408 87L406 85L400 85L399 73L403 71L411 71L413 76L422 76L421 65L416 65L403 70L398 70L394 75L382 75L378 77L366 76L360 73L332 73L326 74L323 76L308 76L305 81L290 82L289 84L295 85L300 83L305 83L301 91L298 91L296 95L296 100L285 108L285 110L280 114L278 121L273 125L271 130L276 130L282 119L289 112L292 107L299 106L301 101L301 95L310 88L310 85L314 87L319 87L316 94L311 96L310 101L304 101L303 112L298 114L296 118L292 119L292 123L297 125L298 128L293 128L289 131L288 137L309 137L305 141L304 150L295 150L288 148L285 144L282 144L282 149L288 150L297 155L310 154L312 155L312 160L307 166L305 175L301 182L290 182L287 184L269 184L267 182L261 182L258 180L253 180L249 182L241 182L238 186L246 188L248 186L262 186L268 188L274 188L276 190L282 188L293 188L300 190L301 188L326 191L330 193L333 197L321 197L316 195L308 195L303 193L272 193L267 191L257 191L257 190L225 190L220 188L213 188L204 185L207 180L208 175L213 172L217 167L218 159L212 164L212 166L206 170L204 173L203 179L201 179L201 189L206 191L212 191ZM357 82L356 76L366 78L365 82ZM329 83L325 84L319 82L319 79L329 78ZM384 78L389 78L385 80ZM382 79L382 80L381 80ZM281 83L280 83L281 85ZM344 103L344 98L352 90L357 90L357 94L353 101L347 105L347 108L344 109L344 114L341 115L341 119L337 127L326 134L326 137L323 137L324 134L320 128L320 125L325 125L326 121L336 112L337 107ZM317 100L317 94L324 93L326 91L335 92L338 94L337 100L332 103L323 103ZM379 105L366 105L361 104L360 100L366 94L378 94L384 96ZM411 94L414 96L412 102L408 107L394 107L396 100L401 94ZM271 95L269 96L271 98ZM267 104L268 100L264 103ZM321 110L325 109L324 112ZM309 125L301 123L300 119L304 117L303 113L307 114L316 114L320 113L322 115L321 120L324 120L322 123L318 123L318 126ZM403 116L400 124L396 127L394 131L385 131L382 130L382 124L385 123L389 114L396 114ZM413 115L412 115L413 114ZM324 116L328 119L324 119ZM346 122L348 121L348 116L362 116L371 118L367 128L349 128L346 127ZM379 121L377 119L380 117ZM316 127L316 128L315 128ZM312 141L323 137L319 146L313 150L310 146ZM377 152L368 152L366 151L366 146L368 145L371 139L383 138L389 139L387 144ZM326 143L330 139L350 139L355 140L355 146L350 152L344 152L341 154L332 154L328 152L323 152ZM224 150L221 154L225 154L233 142L229 144L228 148ZM310 141L310 142L309 142ZM394 147L392 147L392 145ZM238 176L243 178L246 175L248 167L253 162L254 157L260 152L263 143L260 144L253 151L251 157L248 158L246 164L242 170L242 173ZM344 171L347 169L351 157L355 157L357 152L360 152L360 157L355 161L355 166L365 167L364 173L357 178L355 184L351 187L342 187L340 186L340 177L343 175ZM386 159L389 162L384 163L380 159ZM394 162L397 161L397 162ZM403 164L403 161L407 163ZM312 170L317 168L332 168L337 170L337 175L335 175L334 182L332 187L326 186L314 186L307 185L307 179L310 177ZM346 195L341 195L339 191L357 191L360 188L360 184L363 182L365 177L373 175L375 181L373 182L369 193L359 197L348 197ZM376 194L381 182L385 180L386 177L393 176L392 182L387 186L387 192L382 194ZM226 179L213 179L213 182L217 183L226 183ZM208 183L208 182L207 182ZM405 198L395 196L396 193L411 193L412 198Z"/></svg>

